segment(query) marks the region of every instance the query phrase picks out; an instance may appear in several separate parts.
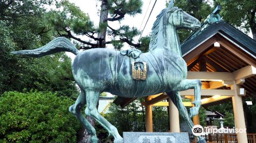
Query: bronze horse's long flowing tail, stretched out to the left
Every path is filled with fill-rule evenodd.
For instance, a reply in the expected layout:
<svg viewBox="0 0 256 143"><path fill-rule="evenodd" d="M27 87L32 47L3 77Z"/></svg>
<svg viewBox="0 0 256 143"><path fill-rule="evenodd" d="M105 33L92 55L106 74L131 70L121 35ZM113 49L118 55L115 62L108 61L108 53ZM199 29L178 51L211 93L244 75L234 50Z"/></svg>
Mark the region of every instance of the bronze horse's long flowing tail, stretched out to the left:
<svg viewBox="0 0 256 143"><path fill-rule="evenodd" d="M12 54L17 55L26 55L30 57L42 57L50 54L54 54L57 52L71 52L75 55L79 53L79 51L76 49L76 47L70 42L69 39L65 37L58 37L53 39L48 44L39 47L38 49L34 50L22 50L22 51L14 51Z"/></svg>

